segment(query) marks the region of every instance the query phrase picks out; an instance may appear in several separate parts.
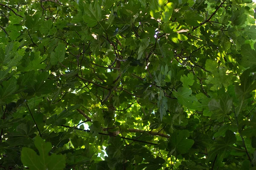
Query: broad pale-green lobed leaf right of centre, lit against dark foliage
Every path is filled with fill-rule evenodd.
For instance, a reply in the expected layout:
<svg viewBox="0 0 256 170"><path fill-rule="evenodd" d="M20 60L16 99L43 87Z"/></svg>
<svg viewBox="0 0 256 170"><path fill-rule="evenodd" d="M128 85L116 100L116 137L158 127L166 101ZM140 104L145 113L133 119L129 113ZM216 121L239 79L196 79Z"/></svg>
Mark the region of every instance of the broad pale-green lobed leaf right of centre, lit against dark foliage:
<svg viewBox="0 0 256 170"><path fill-rule="evenodd" d="M177 92L173 91L173 95L178 99L180 105L184 105L186 107L191 107L193 102L197 102L197 98L195 96L190 96L192 94L192 90L186 87L178 88Z"/></svg>

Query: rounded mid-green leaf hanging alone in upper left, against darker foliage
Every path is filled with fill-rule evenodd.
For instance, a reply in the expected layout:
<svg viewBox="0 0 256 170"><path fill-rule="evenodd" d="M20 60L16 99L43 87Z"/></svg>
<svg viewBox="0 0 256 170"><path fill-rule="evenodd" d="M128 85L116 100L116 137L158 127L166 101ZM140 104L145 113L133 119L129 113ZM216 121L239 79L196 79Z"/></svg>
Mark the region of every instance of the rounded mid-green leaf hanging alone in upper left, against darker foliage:
<svg viewBox="0 0 256 170"><path fill-rule="evenodd" d="M55 48L55 52L51 53L51 64L57 65L58 62L63 62L66 54L66 45L59 43Z"/></svg>

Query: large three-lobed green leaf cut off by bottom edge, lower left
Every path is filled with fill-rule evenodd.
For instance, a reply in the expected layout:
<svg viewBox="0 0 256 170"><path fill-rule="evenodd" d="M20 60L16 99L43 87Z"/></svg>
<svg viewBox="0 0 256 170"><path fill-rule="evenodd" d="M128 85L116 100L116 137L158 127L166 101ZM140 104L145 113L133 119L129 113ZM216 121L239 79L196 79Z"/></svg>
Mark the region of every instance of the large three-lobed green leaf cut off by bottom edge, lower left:
<svg viewBox="0 0 256 170"><path fill-rule="evenodd" d="M63 170L65 167L65 156L56 155L52 153L49 156L49 151L52 149L50 142L44 142L44 140L36 136L35 147L39 151L39 155L28 147L23 147L21 150L21 161L29 167L31 170Z"/></svg>

